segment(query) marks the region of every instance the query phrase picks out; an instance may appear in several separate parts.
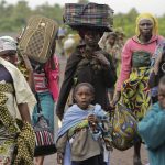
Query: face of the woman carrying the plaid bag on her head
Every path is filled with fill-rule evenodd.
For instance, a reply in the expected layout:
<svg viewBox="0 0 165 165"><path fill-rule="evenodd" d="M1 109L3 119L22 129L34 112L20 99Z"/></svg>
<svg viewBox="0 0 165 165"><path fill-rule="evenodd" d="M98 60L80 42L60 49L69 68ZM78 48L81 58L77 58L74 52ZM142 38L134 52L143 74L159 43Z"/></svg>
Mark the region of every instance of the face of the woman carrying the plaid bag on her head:
<svg viewBox="0 0 165 165"><path fill-rule="evenodd" d="M101 36L98 31L95 31L95 30L85 31L85 43L88 46L97 46L100 37Z"/></svg>

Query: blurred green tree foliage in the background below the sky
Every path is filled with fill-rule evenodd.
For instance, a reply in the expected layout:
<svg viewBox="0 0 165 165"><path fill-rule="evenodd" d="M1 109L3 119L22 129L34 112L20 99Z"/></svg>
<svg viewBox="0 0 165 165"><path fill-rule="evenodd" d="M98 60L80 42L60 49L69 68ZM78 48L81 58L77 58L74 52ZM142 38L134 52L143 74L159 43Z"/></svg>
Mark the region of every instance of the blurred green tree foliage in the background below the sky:
<svg viewBox="0 0 165 165"><path fill-rule="evenodd" d="M87 3L88 0L79 0L79 3ZM20 32L28 19L33 14L42 14L47 18L56 20L63 25L64 7L59 4L51 6L44 3L31 9L26 1L21 0L16 4L8 4L6 0L0 0L0 32ZM131 9L128 13L114 14L114 28L122 28L127 37L134 35L135 18L139 12L135 8ZM165 36L165 14L158 18L160 34Z"/></svg>

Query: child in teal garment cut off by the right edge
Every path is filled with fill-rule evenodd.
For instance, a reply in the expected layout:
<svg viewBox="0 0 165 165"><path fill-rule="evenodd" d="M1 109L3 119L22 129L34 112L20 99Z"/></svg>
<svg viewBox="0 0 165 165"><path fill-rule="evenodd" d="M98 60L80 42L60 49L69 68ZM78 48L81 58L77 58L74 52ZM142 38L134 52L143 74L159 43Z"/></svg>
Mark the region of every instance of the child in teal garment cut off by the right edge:
<svg viewBox="0 0 165 165"><path fill-rule="evenodd" d="M158 102L139 123L139 133L144 140L150 165L165 164L165 76L158 84Z"/></svg>

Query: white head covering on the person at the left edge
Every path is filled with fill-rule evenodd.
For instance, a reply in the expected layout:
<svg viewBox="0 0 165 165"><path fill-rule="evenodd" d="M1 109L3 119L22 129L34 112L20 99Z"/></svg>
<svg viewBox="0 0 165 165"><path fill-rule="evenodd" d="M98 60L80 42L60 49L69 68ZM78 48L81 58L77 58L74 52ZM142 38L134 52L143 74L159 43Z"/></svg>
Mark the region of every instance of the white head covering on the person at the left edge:
<svg viewBox="0 0 165 165"><path fill-rule="evenodd" d="M1 36L0 55L7 53L8 51L16 52L16 41L11 36Z"/></svg>

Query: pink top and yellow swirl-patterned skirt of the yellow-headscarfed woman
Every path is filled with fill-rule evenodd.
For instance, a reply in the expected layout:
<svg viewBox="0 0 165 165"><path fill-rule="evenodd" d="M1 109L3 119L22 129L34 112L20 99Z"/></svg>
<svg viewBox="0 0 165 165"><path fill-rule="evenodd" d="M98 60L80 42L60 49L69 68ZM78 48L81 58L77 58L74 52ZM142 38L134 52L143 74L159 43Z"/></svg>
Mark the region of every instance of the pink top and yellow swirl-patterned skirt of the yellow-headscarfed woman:
<svg viewBox="0 0 165 165"><path fill-rule="evenodd" d="M151 59L160 40L161 37L153 36L148 43L143 44L134 36L123 47L117 90L121 91L122 102L133 111L138 120L145 116L151 105L147 82Z"/></svg>

